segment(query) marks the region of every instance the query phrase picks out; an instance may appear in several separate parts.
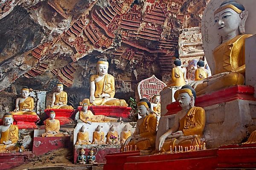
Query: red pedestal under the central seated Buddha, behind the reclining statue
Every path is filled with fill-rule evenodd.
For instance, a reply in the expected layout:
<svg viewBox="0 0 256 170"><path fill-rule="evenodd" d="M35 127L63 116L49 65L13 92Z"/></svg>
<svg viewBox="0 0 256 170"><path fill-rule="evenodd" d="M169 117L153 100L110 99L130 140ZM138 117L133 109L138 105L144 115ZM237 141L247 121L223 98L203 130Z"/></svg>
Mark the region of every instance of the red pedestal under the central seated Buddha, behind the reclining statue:
<svg viewBox="0 0 256 170"><path fill-rule="evenodd" d="M82 106L77 108L81 111ZM125 106L89 106L88 109L93 112L94 115L105 115L111 117L128 118L131 108Z"/></svg>

